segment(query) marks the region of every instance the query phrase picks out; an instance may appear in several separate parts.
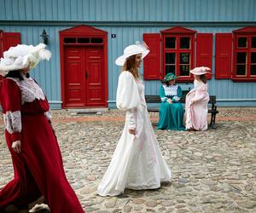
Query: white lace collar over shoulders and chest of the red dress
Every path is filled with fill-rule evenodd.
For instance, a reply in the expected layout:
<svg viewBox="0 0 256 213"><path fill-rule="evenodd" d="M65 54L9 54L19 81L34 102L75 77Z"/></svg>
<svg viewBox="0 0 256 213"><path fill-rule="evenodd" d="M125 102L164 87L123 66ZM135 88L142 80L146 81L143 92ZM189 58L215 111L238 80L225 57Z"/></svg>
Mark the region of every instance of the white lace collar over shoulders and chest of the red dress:
<svg viewBox="0 0 256 213"><path fill-rule="evenodd" d="M43 90L39 87L38 83L36 83L32 78L24 78L24 80L20 81L18 78L10 78L18 84L21 91L21 104L23 105L25 102L32 102L36 99L45 100L45 95Z"/></svg>

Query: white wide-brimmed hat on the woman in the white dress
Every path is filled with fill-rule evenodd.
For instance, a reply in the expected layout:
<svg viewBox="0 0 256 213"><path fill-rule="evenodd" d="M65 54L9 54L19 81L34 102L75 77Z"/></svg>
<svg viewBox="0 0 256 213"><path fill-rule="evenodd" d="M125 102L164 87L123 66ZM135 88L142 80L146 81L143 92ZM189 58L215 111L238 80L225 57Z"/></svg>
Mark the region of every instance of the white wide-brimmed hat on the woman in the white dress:
<svg viewBox="0 0 256 213"><path fill-rule="evenodd" d="M123 66L125 64L125 60L131 55L142 54L142 58L144 58L146 55L148 55L148 53L149 49L146 44L136 42L136 44L131 44L124 49L124 54L115 60L115 64L118 66Z"/></svg>

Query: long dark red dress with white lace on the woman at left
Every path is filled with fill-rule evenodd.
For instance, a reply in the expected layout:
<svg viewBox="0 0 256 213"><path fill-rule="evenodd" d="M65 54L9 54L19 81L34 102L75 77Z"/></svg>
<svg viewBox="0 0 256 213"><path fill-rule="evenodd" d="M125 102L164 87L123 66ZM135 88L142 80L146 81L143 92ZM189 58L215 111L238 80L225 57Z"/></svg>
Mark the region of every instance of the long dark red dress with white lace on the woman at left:
<svg viewBox="0 0 256 213"><path fill-rule="evenodd" d="M8 204L27 207L43 194L52 213L84 213L65 176L42 89L32 78L5 78L0 102L15 170L14 179L0 191L0 212ZM11 148L13 141L20 141L20 154Z"/></svg>

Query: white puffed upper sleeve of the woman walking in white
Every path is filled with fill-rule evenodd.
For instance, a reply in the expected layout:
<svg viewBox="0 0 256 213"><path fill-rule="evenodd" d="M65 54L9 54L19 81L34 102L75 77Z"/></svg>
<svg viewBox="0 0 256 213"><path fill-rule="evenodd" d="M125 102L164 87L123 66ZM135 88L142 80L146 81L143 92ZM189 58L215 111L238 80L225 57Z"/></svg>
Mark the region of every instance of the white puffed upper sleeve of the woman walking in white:
<svg viewBox="0 0 256 213"><path fill-rule="evenodd" d="M116 93L116 106L120 110L127 111L136 108L140 103L139 100L137 83L131 72L121 72Z"/></svg>

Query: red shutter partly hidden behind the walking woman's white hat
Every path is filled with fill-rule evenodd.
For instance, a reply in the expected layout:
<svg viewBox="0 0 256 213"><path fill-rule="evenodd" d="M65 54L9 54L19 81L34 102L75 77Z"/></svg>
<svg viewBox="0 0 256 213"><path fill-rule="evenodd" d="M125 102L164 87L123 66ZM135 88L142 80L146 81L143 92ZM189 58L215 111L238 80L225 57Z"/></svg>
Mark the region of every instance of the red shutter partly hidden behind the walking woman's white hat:
<svg viewBox="0 0 256 213"><path fill-rule="evenodd" d="M143 41L148 44L149 54L144 58L144 75L145 80L160 80L160 34L144 33Z"/></svg>

